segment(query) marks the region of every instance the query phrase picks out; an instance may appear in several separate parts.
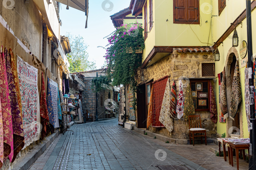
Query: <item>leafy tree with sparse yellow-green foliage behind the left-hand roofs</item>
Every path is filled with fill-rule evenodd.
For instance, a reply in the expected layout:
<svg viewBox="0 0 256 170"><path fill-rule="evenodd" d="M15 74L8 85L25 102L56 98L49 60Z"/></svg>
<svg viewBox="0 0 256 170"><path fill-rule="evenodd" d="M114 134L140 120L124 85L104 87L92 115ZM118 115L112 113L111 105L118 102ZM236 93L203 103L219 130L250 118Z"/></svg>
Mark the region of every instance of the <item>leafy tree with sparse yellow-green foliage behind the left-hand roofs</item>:
<svg viewBox="0 0 256 170"><path fill-rule="evenodd" d="M70 64L69 70L73 72L81 72L94 70L96 68L95 62L88 60L87 47L84 43L82 36L74 36L68 33L71 53L67 54L67 58Z"/></svg>

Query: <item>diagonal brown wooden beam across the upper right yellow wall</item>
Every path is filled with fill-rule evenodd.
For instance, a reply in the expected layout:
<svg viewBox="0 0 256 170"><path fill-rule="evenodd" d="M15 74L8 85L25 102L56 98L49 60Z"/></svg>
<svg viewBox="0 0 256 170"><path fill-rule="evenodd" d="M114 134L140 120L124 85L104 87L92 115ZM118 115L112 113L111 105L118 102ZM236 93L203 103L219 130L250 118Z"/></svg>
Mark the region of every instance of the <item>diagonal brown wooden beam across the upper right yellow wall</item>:
<svg viewBox="0 0 256 170"><path fill-rule="evenodd" d="M252 1L251 10L253 11L255 9L255 7L256 7L256 1ZM237 22L242 22L245 18L246 18L246 9L243 10L243 12L235 19L235 21L233 23L236 24ZM213 45L213 48L216 48L216 46L217 46L216 44L225 40L231 34L231 32L234 30L235 30L235 25L230 25L229 28L222 34L222 36Z"/></svg>

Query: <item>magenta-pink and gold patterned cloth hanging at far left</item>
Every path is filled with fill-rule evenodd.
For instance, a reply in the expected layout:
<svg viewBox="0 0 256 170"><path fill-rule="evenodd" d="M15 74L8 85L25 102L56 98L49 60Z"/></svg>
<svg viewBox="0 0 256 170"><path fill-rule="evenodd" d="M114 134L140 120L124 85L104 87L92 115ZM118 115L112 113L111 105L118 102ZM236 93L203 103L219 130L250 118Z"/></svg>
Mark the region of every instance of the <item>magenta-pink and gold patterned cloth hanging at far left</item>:
<svg viewBox="0 0 256 170"><path fill-rule="evenodd" d="M13 130L11 121L11 107L9 101L9 87L5 66L5 54L8 54L7 49L3 52L1 47L1 61L0 61L0 98L2 105L2 118L3 118L3 158L9 156L10 160L13 157Z"/></svg>

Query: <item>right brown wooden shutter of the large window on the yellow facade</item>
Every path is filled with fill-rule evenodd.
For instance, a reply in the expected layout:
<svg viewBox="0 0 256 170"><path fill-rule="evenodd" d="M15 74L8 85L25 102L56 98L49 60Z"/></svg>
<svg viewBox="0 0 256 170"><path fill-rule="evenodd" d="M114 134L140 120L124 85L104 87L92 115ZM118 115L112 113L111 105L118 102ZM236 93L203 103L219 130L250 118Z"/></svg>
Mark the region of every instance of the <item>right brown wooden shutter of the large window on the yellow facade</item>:
<svg viewBox="0 0 256 170"><path fill-rule="evenodd" d="M187 21L198 22L199 21L199 5L198 0L187 0Z"/></svg>

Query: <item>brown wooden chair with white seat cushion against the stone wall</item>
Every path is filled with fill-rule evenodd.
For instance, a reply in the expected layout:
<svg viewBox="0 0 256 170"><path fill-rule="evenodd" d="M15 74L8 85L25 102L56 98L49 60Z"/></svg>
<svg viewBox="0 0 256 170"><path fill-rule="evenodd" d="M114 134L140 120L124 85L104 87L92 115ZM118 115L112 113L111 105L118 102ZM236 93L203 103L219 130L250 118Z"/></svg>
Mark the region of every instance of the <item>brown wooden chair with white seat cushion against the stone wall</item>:
<svg viewBox="0 0 256 170"><path fill-rule="evenodd" d="M203 143L203 136L205 138L205 145L206 143L206 130L201 126L201 117L200 115L189 115L188 116L188 125L189 125L189 141L191 144L191 138L193 139L193 146L195 146L195 137L201 137L201 144ZM192 133L192 136L191 134ZM195 135L195 133L200 133L200 135ZM202 135L204 133L204 135Z"/></svg>

